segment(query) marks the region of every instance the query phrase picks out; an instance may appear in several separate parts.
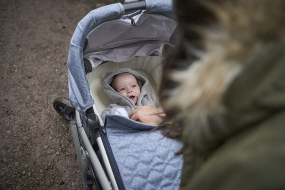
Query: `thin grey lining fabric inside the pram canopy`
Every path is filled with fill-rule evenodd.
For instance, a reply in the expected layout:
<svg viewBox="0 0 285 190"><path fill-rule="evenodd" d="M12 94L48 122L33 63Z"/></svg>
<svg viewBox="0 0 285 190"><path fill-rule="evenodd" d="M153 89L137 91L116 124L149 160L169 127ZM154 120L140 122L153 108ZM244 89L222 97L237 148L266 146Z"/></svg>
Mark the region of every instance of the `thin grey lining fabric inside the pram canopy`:
<svg viewBox="0 0 285 190"><path fill-rule="evenodd" d="M130 18L136 27L131 26ZM135 56L161 56L175 28L175 20L145 11L132 17L111 20L88 34L83 57L90 61L93 70L103 61L122 62Z"/></svg>

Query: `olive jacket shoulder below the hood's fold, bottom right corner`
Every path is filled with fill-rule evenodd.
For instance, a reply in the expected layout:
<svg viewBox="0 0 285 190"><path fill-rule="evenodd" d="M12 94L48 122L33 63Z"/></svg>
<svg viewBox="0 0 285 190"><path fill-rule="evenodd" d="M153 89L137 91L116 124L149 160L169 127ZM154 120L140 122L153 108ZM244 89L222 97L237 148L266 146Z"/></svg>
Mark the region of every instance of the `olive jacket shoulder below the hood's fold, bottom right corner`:
<svg viewBox="0 0 285 190"><path fill-rule="evenodd" d="M284 116L284 115L283 115ZM230 137L195 173L189 189L282 189L285 129L281 115ZM183 188L182 188L183 189Z"/></svg>

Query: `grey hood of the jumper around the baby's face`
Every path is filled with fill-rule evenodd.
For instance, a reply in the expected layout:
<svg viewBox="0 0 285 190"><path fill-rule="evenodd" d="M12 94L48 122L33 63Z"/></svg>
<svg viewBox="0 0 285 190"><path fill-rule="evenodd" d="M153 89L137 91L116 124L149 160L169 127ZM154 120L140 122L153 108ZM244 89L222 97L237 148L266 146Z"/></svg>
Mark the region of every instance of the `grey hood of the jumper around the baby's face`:
<svg viewBox="0 0 285 190"><path fill-rule="evenodd" d="M148 80L140 75L139 73L135 72L134 70L131 70L130 68L121 68L116 70L114 73L108 72L105 75L105 80L104 80L104 91L105 93L110 97L110 99L113 101L115 104L120 104L121 106L126 106L130 105L131 100L122 94L118 93L115 89L111 87L111 83L114 79L115 76L121 73L130 73L138 81L139 86L141 87L141 93L139 95L139 99L137 101L137 104L139 105L139 101L146 95L147 93L147 87L148 87ZM133 104L133 103L131 103ZM134 105L135 106L135 105Z"/></svg>

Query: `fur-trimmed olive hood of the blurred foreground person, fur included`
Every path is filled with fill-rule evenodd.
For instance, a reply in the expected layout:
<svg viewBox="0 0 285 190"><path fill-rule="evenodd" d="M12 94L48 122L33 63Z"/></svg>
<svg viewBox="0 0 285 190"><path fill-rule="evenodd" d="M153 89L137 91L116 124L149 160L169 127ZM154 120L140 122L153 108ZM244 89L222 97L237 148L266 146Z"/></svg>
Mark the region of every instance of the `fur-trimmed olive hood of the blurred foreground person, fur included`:
<svg viewBox="0 0 285 190"><path fill-rule="evenodd" d="M281 1L206 2L212 23L186 25L180 15L180 26L199 33L202 48L185 32L186 60L163 74L178 85L164 85L161 103L174 125L183 126L177 128L187 146L207 157L233 133L284 109L285 9Z"/></svg>

